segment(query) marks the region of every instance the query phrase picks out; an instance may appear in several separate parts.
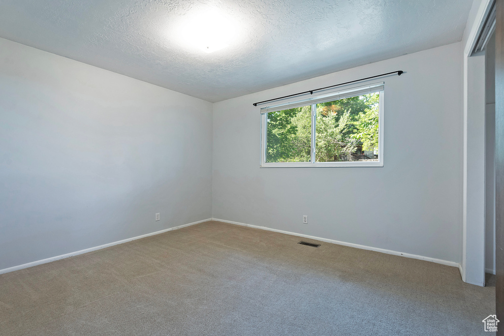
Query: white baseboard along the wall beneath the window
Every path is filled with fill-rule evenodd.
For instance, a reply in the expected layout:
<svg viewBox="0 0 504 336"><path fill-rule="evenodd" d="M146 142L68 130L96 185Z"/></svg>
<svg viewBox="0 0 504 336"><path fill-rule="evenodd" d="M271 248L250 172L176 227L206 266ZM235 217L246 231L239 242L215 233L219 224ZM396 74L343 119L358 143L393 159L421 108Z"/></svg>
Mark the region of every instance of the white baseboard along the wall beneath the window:
<svg viewBox="0 0 504 336"><path fill-rule="evenodd" d="M412 259L431 261L431 262L440 263L440 264L443 264L443 265L448 265L448 266L453 266L453 267L459 267L459 270L460 270L460 264L458 262L454 262L454 261L448 261L448 260L443 260L443 259L436 259L436 258L431 258L431 257L426 257L426 256L416 255L416 254L410 254L410 253L405 253L405 252L397 252L397 251L387 250L387 249L384 249L384 248L377 248L377 247L371 247L371 246L365 246L365 245L347 243L347 242L344 242L344 241L338 241L338 240L333 240L333 239L314 237L314 236L309 236L309 235L305 235L305 234L301 234L301 233L295 233L295 232L289 232L289 231L271 229L271 228L268 228L266 226L257 226L257 225L251 225L251 224L245 224L245 223L239 223L239 222L233 222L233 221L226 221L226 220L218 219L218 218L212 218L212 220L213 221L217 221L217 222L223 222L223 223L230 223L230 224L235 224L235 225L247 226L249 228L255 228L255 229L261 229L261 230L266 230L266 231L273 231L273 232L284 233L284 234L288 234L288 235L291 235L291 236L298 236L298 237L303 237L303 238L320 240L320 241L325 241L325 242L332 243L332 244L360 248L360 249L363 249L363 250L369 250L369 251L387 253L387 254L392 254L392 255L399 255L399 256L403 256L403 257L407 257L407 258L412 258Z"/></svg>

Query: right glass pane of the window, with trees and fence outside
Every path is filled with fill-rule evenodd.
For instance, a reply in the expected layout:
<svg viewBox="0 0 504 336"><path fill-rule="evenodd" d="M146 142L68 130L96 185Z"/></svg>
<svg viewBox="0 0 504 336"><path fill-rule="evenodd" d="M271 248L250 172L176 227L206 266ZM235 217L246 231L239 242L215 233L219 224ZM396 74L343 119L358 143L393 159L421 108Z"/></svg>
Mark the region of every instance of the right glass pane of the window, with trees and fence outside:
<svg viewBox="0 0 504 336"><path fill-rule="evenodd" d="M316 162L378 161L380 93L317 104Z"/></svg>

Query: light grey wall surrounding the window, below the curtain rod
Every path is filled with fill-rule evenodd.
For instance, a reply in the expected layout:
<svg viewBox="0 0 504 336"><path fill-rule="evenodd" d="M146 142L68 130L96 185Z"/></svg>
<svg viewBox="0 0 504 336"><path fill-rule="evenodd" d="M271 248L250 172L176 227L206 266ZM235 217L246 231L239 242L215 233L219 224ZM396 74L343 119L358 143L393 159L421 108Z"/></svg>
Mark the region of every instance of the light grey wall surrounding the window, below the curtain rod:
<svg viewBox="0 0 504 336"><path fill-rule="evenodd" d="M461 44L214 104L214 218L461 261ZM383 168L259 168L257 101L385 72ZM302 216L308 216L308 225Z"/></svg>

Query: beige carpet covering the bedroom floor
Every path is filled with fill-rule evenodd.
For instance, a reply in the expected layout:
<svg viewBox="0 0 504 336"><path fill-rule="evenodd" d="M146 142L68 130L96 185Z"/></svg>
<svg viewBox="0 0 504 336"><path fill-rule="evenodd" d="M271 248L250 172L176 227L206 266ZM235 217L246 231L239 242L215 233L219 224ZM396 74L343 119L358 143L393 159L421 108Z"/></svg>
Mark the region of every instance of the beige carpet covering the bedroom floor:
<svg viewBox="0 0 504 336"><path fill-rule="evenodd" d="M0 335L491 334L455 267L299 240L207 222L1 275Z"/></svg>

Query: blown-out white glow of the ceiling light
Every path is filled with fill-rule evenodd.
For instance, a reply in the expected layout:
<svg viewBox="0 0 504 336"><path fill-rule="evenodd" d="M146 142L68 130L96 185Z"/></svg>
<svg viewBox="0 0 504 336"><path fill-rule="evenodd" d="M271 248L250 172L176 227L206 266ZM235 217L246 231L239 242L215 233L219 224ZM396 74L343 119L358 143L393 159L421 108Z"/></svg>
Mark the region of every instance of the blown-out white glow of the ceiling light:
<svg viewBox="0 0 504 336"><path fill-rule="evenodd" d="M239 24L217 9L201 10L184 15L174 35L185 48L211 53L236 42Z"/></svg>

